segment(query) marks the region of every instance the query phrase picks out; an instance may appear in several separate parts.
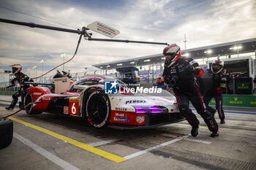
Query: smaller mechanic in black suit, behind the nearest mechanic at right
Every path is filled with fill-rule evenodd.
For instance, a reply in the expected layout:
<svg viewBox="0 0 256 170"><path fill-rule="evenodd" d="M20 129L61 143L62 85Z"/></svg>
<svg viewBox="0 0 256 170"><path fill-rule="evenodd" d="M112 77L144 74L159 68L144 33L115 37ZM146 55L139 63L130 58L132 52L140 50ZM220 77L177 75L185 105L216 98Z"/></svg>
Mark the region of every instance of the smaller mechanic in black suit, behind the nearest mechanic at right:
<svg viewBox="0 0 256 170"><path fill-rule="evenodd" d="M214 116L216 109L219 113L219 119L220 123L225 123L225 115L223 112L222 107L222 77L225 77L224 74L222 74L222 69L224 66L224 62L217 59L214 62L211 63L211 69L208 70L209 74L212 75L212 81L213 85L212 87L206 92L206 95L203 96L203 101L206 104L206 109L211 112L211 114ZM216 109L208 106L209 102L211 101L211 98L215 99L216 102Z"/></svg>

